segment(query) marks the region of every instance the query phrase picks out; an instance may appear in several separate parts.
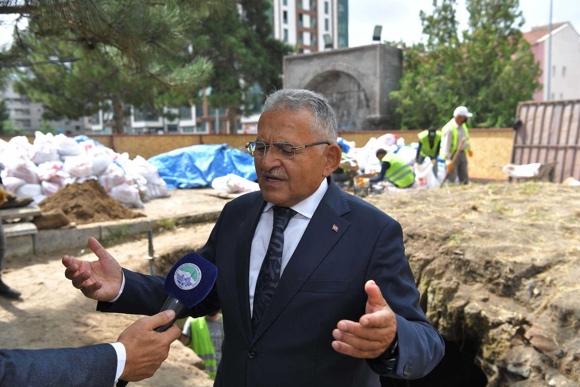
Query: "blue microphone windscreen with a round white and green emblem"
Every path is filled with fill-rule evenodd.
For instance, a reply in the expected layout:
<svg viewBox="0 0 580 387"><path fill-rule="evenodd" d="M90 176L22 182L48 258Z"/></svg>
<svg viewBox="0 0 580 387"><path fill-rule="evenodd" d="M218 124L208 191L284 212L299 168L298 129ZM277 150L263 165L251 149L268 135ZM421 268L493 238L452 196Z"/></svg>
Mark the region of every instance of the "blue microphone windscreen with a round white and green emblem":
<svg viewBox="0 0 580 387"><path fill-rule="evenodd" d="M217 276L218 268L213 263L190 252L169 270L163 291L177 298L186 308L191 308L208 295Z"/></svg>

